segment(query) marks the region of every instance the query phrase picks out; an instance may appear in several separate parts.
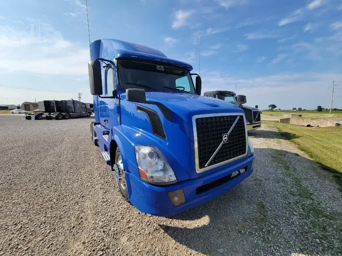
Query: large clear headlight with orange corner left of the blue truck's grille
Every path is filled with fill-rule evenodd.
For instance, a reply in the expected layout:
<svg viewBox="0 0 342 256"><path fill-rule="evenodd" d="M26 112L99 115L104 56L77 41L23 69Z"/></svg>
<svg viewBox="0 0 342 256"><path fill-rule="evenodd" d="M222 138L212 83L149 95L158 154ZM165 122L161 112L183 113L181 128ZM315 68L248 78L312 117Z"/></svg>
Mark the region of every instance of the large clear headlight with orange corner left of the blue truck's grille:
<svg viewBox="0 0 342 256"><path fill-rule="evenodd" d="M159 149L152 146L135 146L140 179L149 183L177 182L175 174Z"/></svg>

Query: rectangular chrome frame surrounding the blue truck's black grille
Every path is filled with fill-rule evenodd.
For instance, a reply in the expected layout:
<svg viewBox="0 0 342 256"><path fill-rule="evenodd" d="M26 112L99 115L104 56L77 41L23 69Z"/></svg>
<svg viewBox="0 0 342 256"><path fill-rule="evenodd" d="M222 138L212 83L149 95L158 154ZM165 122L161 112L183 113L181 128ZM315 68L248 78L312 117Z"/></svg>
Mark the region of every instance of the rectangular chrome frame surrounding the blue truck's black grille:
<svg viewBox="0 0 342 256"><path fill-rule="evenodd" d="M204 168L200 168L199 166L199 161L198 161L198 143L197 143L197 130L196 130L196 119L200 118L200 117L210 117L210 116L223 116L223 115L240 115L243 117L244 119L244 123L245 123L245 134L246 134L246 153L240 156L237 156L235 158L220 162L220 163L216 163L213 165L210 165L208 167L204 167ZM203 173L206 170L221 166L223 164L229 163L229 162L233 162L235 160L238 160L242 157L245 157L247 155L248 152L248 135L247 135L247 126L246 126L246 117L244 113L215 113L215 114L203 114L203 115L194 115L193 116L193 132L194 132L194 149L195 149L195 170L196 173Z"/></svg>

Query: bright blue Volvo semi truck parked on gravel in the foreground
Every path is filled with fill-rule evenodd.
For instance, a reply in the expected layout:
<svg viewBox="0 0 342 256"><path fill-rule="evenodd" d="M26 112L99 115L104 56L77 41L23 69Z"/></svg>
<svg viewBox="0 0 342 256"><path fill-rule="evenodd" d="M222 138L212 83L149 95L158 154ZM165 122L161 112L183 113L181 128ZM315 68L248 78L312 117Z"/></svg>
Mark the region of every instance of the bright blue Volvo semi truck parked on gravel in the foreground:
<svg viewBox="0 0 342 256"><path fill-rule="evenodd" d="M90 49L91 138L140 211L175 215L252 173L243 110L200 96L191 65L117 39L93 41Z"/></svg>

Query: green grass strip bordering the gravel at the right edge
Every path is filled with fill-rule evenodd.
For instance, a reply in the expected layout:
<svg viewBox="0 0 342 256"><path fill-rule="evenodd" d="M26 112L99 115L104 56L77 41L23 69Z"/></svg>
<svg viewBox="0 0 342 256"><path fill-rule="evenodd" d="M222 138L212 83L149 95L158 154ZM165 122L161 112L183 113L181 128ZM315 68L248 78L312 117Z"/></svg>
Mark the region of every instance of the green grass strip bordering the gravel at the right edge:
<svg viewBox="0 0 342 256"><path fill-rule="evenodd" d="M342 191L342 127L313 128L274 121L262 123L275 126L324 169L333 172Z"/></svg>

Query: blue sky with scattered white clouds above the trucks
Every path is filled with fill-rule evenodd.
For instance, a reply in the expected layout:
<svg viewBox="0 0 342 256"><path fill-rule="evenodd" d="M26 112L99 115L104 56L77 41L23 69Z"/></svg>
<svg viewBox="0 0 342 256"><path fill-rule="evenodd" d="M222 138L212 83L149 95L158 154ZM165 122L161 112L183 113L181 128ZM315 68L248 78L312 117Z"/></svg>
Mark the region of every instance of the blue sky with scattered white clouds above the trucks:
<svg viewBox="0 0 342 256"><path fill-rule="evenodd" d="M88 0L88 11L91 40L185 61L201 70L202 94L237 84L261 109L329 108L337 81L342 108L341 0ZM1 1L0 49L0 104L92 102L85 0Z"/></svg>

